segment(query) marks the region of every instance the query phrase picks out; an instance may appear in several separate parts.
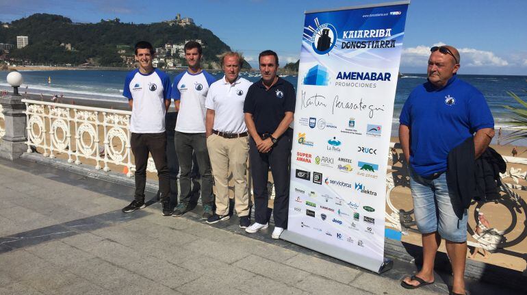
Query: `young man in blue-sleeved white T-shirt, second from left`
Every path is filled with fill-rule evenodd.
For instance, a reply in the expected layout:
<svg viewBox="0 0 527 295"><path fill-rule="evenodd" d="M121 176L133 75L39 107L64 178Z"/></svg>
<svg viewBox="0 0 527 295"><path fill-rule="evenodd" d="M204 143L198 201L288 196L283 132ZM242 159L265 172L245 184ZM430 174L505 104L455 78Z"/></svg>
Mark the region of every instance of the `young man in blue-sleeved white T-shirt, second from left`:
<svg viewBox="0 0 527 295"><path fill-rule="evenodd" d="M192 209L190 204L192 153L198 162L201 175L201 203L203 215L207 220L213 215L212 172L207 141L205 139L205 98L209 86L216 81L212 75L201 68L202 47L196 41L189 41L183 47L188 68L177 75L172 84L172 99L178 112L175 128L176 154L181 168L179 175L179 203L173 216L182 216Z"/></svg>

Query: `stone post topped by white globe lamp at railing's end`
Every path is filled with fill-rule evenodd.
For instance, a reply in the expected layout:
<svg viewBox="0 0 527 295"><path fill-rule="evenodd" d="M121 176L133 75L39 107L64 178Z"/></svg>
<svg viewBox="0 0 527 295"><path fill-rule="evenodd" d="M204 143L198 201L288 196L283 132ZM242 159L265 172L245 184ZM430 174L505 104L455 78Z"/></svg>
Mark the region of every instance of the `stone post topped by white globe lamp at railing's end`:
<svg viewBox="0 0 527 295"><path fill-rule="evenodd" d="M0 139L0 157L4 159L16 159L27 149L25 144L25 104L22 102L21 95L16 91L22 81L20 73L10 73L8 83L14 87L14 94L0 99L5 123L5 135Z"/></svg>

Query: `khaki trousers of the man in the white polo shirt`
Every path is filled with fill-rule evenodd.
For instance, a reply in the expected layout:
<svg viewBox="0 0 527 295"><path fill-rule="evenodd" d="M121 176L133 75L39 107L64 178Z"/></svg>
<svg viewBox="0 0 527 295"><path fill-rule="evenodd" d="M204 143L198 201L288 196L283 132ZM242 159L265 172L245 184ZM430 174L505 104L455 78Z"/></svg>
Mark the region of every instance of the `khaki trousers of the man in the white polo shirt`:
<svg viewBox="0 0 527 295"><path fill-rule="evenodd" d="M247 185L248 137L222 138L211 134L207 149L216 187L216 214L229 214L229 171L234 182L234 209L237 216L248 216L249 194Z"/></svg>

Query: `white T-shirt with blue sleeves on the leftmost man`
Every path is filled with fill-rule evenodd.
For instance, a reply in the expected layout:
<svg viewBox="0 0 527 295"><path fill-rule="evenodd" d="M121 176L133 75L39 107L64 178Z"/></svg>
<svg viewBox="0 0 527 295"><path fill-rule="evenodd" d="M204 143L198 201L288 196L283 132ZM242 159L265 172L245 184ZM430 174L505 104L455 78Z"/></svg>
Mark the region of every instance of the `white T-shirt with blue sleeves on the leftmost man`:
<svg viewBox="0 0 527 295"><path fill-rule="evenodd" d="M155 68L149 74L138 69L128 73L123 96L133 99L130 131L162 133L165 131L165 101L170 99L170 78Z"/></svg>

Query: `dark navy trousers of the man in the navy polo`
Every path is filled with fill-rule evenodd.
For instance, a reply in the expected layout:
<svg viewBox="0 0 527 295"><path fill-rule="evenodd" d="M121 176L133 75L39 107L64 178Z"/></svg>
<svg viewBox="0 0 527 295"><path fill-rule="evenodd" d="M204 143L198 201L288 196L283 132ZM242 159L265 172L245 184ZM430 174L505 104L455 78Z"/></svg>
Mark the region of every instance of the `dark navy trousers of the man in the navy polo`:
<svg viewBox="0 0 527 295"><path fill-rule="evenodd" d="M287 228L292 136L293 130L287 129L269 153L260 153L253 138L249 139L249 161L255 196L255 221L260 224L266 224L270 218L267 190L270 167L275 192L272 209L274 225Z"/></svg>

